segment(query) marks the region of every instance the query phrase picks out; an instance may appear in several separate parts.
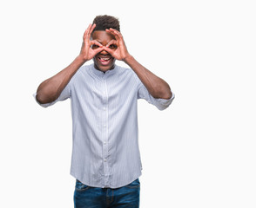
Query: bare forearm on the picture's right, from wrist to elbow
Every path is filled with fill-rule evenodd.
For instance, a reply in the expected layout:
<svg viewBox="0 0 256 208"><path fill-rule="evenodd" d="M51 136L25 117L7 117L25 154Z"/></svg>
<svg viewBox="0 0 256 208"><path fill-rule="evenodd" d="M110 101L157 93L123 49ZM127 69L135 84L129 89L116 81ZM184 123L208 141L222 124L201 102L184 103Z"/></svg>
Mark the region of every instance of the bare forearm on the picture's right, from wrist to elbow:
<svg viewBox="0 0 256 208"><path fill-rule="evenodd" d="M131 55L125 58L125 63L138 75L138 78L145 85L154 98L170 99L172 91L168 83L154 75L150 70L142 66Z"/></svg>

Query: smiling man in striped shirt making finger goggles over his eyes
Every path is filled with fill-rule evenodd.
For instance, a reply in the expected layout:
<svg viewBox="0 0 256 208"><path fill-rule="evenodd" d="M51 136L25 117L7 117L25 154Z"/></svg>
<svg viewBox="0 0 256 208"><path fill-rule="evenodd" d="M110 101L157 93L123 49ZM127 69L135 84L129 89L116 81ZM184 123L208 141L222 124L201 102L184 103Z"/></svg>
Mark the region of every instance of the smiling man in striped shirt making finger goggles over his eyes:
<svg viewBox="0 0 256 208"><path fill-rule="evenodd" d="M43 107L71 99L75 207L138 207L137 100L164 110L174 95L129 54L117 18L96 16L83 38L77 58L43 81L35 97ZM91 59L94 64L83 66ZM130 68L115 65L116 60Z"/></svg>

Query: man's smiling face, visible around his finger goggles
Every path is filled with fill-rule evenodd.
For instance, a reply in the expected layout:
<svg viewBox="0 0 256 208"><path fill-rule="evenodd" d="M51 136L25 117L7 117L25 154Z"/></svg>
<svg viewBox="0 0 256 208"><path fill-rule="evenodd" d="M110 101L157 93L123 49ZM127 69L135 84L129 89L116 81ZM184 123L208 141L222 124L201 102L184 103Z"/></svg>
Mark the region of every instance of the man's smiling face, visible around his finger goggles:
<svg viewBox="0 0 256 208"><path fill-rule="evenodd" d="M104 30L94 31L91 35L92 40L96 40L103 46L106 46L111 40L115 40L115 37L107 33ZM98 48L97 45L93 45L92 49ZM110 46L111 48L111 46ZM111 56L110 53L103 50L93 57L94 67L103 72L114 68L116 59Z"/></svg>

